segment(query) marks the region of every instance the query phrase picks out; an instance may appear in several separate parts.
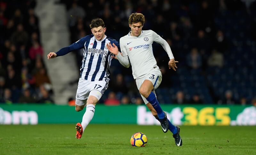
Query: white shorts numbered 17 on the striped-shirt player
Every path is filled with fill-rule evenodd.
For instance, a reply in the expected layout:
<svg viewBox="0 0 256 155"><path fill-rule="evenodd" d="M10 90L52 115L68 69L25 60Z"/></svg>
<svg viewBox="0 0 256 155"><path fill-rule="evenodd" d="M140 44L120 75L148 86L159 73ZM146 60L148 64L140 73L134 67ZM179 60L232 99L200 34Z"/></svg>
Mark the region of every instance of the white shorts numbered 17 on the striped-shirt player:
<svg viewBox="0 0 256 155"><path fill-rule="evenodd" d="M86 100L89 97L89 93L92 90L96 90L99 93L95 94L93 93L93 96L98 98L98 100L101 98L105 90L108 88L108 82L106 81L89 81L80 78L77 86L76 91L76 99L78 100Z"/></svg>

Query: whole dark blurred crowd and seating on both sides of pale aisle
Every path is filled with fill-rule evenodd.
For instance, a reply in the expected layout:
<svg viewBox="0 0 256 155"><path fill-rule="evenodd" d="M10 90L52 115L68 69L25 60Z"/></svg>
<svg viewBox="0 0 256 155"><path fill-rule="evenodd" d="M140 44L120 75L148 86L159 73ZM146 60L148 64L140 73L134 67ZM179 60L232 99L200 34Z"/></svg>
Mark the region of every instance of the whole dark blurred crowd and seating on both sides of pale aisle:
<svg viewBox="0 0 256 155"><path fill-rule="evenodd" d="M106 35L117 41L130 31L132 12L145 15L143 30L153 30L171 46L177 71L159 44L153 51L163 80L161 104L247 105L256 102L256 2L253 0L60 0L67 8L71 42L91 34L102 18ZM22 3L20 3L22 4ZM35 1L1 3L1 102L53 102L51 82L41 57ZM47 51L49 52L49 51ZM77 70L83 52L76 51ZM14 63L15 62L15 63ZM35 67L34 67L35 66ZM143 104L131 67L111 62L110 85L99 103ZM26 100L26 101L23 101Z"/></svg>

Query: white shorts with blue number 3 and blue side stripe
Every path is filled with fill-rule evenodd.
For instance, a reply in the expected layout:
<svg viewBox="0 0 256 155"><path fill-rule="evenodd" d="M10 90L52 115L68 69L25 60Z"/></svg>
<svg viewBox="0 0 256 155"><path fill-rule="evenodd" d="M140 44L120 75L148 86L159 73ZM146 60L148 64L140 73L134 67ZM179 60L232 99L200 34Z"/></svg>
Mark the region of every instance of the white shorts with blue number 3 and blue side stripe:
<svg viewBox="0 0 256 155"><path fill-rule="evenodd" d="M147 74L145 77L137 78L136 79L136 85L137 85L138 90L140 90L140 86L142 85L142 83L145 80L149 80L149 81L152 82L152 84L154 86L154 90L152 92L156 95L155 90L156 90L156 88L159 87L159 85L161 84L161 81L162 81L162 73L161 73L161 71L159 69L152 70L152 72ZM141 97L142 97L144 103L148 104L148 100L144 96L142 96L142 95L141 95Z"/></svg>

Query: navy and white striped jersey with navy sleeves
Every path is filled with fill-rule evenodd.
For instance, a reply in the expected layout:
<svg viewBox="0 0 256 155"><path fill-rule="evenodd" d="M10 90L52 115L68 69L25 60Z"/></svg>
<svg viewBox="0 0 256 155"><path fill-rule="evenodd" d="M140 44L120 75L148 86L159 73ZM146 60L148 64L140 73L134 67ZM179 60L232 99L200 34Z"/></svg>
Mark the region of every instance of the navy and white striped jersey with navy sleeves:
<svg viewBox="0 0 256 155"><path fill-rule="evenodd" d="M107 43L114 43L120 51L119 43L113 38L105 36L101 41L95 39L94 35L87 35L72 45L61 48L56 52L57 56L65 55L71 51L84 48L80 78L89 81L109 81L109 67L113 55L106 47Z"/></svg>

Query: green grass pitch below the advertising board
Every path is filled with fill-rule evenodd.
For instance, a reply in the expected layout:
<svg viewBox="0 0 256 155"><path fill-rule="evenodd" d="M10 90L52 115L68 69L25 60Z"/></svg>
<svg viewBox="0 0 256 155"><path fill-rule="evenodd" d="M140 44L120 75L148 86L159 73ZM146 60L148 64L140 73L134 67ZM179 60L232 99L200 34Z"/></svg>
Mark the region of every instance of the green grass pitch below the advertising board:
<svg viewBox="0 0 256 155"><path fill-rule="evenodd" d="M81 139L75 124L0 125L0 154L256 154L256 126L180 126L183 145L160 126L89 124ZM136 132L146 147L132 147Z"/></svg>

